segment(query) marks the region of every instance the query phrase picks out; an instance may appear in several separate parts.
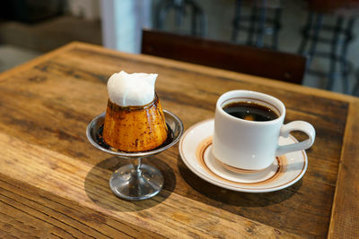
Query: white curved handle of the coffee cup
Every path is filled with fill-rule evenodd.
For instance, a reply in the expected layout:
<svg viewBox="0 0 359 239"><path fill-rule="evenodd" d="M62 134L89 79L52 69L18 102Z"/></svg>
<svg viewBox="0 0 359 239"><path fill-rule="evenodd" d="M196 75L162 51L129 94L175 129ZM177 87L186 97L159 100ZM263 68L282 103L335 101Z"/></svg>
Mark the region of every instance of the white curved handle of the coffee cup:
<svg viewBox="0 0 359 239"><path fill-rule="evenodd" d="M276 148L276 156L284 155L285 153L292 151L308 149L311 147L315 139L315 129L311 124L305 121L293 121L291 123L284 124L280 130L279 135L287 138L289 136L289 132L293 131L304 132L308 135L308 139L288 145L278 146Z"/></svg>

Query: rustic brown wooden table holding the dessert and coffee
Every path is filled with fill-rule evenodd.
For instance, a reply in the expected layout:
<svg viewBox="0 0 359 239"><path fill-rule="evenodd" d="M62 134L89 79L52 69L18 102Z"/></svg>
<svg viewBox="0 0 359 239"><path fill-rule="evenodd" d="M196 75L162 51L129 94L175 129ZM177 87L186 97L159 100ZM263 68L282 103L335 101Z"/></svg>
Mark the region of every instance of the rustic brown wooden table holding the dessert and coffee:
<svg viewBox="0 0 359 239"><path fill-rule="evenodd" d="M193 174L176 145L146 160L164 175L159 195L118 199L109 176L128 162L92 147L85 129L120 70L158 73L162 107L185 129L214 117L228 90L282 99L286 121L316 128L308 171L279 192L232 192ZM0 237L358 238L358 120L358 98L73 43L0 74Z"/></svg>

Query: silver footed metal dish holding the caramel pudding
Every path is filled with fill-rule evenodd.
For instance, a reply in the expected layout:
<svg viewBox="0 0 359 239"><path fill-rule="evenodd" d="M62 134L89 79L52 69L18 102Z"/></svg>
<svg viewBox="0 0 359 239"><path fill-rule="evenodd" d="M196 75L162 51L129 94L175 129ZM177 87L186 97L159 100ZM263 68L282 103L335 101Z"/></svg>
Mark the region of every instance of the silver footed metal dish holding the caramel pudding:
<svg viewBox="0 0 359 239"><path fill-rule="evenodd" d="M162 190L163 175L154 166L141 163L142 158L151 157L171 148L180 140L183 124L180 118L168 110L163 110L167 126L171 130L168 140L157 149L144 152L127 153L114 149L102 140L101 127L105 120L105 113L97 115L87 126L87 139L96 149L100 149L118 158L131 158L132 165L121 166L109 179L109 187L119 198L139 201L152 198Z"/></svg>

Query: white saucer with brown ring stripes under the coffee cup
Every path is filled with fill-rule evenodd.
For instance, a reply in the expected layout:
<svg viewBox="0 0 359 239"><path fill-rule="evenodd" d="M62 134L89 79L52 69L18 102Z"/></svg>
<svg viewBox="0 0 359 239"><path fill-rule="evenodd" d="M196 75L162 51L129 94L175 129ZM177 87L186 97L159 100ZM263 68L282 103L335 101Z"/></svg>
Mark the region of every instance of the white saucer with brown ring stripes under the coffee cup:
<svg viewBox="0 0 359 239"><path fill-rule="evenodd" d="M240 173L224 167L212 154L215 121L209 119L190 127L180 139L180 157L188 168L208 183L238 192L273 192L295 184L308 166L304 150L274 158L273 165L255 173ZM290 135L279 145L297 142Z"/></svg>

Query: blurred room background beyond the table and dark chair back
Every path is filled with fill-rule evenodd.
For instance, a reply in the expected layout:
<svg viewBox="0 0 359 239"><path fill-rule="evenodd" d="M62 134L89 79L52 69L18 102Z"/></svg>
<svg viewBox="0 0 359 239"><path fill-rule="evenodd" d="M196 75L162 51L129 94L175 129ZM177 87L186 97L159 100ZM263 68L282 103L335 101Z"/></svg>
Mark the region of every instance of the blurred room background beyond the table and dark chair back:
<svg viewBox="0 0 359 239"><path fill-rule="evenodd" d="M303 85L357 96L356 2L4 0L0 7L0 72L71 41L137 54L141 52L141 30L146 28L305 55ZM333 79L330 87L329 78Z"/></svg>

